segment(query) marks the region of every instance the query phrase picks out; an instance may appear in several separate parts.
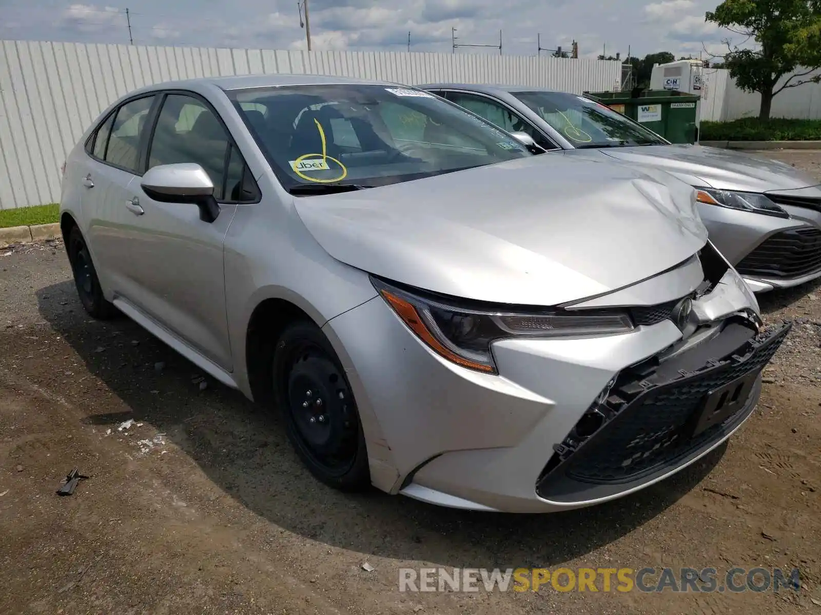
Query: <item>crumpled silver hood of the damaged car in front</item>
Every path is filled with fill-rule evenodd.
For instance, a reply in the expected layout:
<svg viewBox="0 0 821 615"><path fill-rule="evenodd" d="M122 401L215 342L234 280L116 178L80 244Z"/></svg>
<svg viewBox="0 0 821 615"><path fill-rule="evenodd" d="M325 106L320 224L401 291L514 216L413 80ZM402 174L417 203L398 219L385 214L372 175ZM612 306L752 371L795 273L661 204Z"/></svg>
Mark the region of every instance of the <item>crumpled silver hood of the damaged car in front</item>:
<svg viewBox="0 0 821 615"><path fill-rule="evenodd" d="M294 203L339 261L502 303L556 305L608 293L686 261L707 239L690 186L558 157Z"/></svg>

